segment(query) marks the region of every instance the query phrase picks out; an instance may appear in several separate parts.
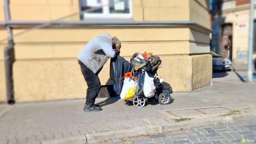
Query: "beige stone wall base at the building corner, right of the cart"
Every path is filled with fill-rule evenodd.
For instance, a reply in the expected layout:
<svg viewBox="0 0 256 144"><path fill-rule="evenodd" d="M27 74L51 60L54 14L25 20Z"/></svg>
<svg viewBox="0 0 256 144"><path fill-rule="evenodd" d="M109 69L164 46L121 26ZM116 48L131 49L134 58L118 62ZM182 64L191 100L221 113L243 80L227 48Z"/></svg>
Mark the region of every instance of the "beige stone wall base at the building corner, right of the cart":
<svg viewBox="0 0 256 144"><path fill-rule="evenodd" d="M163 67L158 70L158 75L174 92L191 92L211 84L210 54L164 56L161 59Z"/></svg>

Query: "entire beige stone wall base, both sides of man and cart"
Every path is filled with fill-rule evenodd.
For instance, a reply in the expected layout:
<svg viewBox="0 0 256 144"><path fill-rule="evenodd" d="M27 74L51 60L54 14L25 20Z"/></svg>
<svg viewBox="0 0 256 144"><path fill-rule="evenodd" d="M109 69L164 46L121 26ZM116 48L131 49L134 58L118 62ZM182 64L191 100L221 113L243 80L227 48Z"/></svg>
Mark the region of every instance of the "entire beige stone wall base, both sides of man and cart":
<svg viewBox="0 0 256 144"><path fill-rule="evenodd" d="M174 92L190 92L211 83L211 55L160 56L158 76ZM127 58L129 60L129 58ZM109 62L99 74L102 85L111 85ZM87 85L77 59L18 60L14 64L16 102L85 98ZM103 88L104 89L104 88ZM106 91L105 91L106 92ZM111 97L104 93L103 97Z"/></svg>

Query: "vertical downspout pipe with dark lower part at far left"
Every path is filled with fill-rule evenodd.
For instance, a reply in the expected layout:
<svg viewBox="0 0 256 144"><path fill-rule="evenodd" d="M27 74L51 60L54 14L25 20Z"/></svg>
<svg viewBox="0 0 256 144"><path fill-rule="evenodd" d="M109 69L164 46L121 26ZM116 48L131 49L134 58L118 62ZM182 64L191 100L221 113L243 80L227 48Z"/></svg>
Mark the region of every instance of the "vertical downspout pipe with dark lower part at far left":
<svg viewBox="0 0 256 144"><path fill-rule="evenodd" d="M10 18L10 8L9 1L4 0L4 13L5 21L8 22ZM5 78L6 78L6 87L7 87L7 103L14 104L14 81L13 81L13 64L15 61L14 53L14 40L13 40L13 30L7 24L7 33L8 33L8 46L4 48L4 64L5 64Z"/></svg>

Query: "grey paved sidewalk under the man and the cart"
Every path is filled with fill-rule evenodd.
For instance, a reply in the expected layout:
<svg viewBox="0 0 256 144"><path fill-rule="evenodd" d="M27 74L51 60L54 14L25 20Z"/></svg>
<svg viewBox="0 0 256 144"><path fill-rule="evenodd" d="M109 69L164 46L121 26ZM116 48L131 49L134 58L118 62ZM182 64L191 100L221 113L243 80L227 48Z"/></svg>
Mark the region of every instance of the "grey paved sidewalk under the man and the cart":
<svg viewBox="0 0 256 144"><path fill-rule="evenodd" d="M171 110L224 108L239 110L243 114L255 110L256 84L241 82L234 72L220 75L214 78L212 86L193 92L172 93L174 101L168 105L153 102L143 108L135 108L122 99L99 98L96 103L100 104L102 111L84 112L85 99L16 103L11 106L1 104L0 143L57 143L81 137L86 141L89 140L86 137L88 134L118 130L130 134L135 129L141 130L138 133L153 133L150 130L143 132L143 129L176 124L173 115L166 114ZM216 118L213 115L210 117ZM197 123L197 118L190 122Z"/></svg>

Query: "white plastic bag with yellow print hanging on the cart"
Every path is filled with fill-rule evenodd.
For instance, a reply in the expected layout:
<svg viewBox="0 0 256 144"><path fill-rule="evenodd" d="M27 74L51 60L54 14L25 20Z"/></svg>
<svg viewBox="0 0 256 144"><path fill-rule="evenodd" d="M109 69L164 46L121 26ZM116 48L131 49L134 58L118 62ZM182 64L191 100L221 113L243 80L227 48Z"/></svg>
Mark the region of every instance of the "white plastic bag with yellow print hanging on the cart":
<svg viewBox="0 0 256 144"><path fill-rule="evenodd" d="M120 94L121 99L130 99L135 95L137 81L132 78L124 78Z"/></svg>

